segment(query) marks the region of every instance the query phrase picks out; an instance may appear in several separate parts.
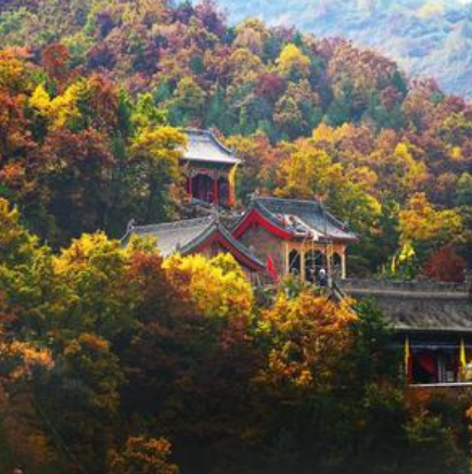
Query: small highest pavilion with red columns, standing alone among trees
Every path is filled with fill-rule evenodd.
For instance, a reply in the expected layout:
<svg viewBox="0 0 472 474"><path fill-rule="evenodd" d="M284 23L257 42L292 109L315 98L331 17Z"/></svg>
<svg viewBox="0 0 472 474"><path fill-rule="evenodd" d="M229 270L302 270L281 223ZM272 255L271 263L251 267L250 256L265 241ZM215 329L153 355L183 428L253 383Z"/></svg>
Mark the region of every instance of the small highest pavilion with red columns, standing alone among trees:
<svg viewBox="0 0 472 474"><path fill-rule="evenodd" d="M232 207L234 180L242 163L212 131L187 129L182 157L187 194L191 200Z"/></svg>

